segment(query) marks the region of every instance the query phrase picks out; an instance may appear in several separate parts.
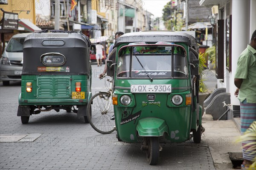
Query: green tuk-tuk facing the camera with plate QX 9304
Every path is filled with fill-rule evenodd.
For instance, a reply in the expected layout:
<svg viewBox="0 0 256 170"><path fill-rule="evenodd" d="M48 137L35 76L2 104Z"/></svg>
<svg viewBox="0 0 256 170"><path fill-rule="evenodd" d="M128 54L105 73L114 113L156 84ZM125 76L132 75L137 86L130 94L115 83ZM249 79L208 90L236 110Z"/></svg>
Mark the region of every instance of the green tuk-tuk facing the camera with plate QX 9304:
<svg viewBox="0 0 256 170"><path fill-rule="evenodd" d="M119 141L142 143L157 164L161 143L201 142L198 104L198 46L191 35L146 31L116 40L113 106Z"/></svg>

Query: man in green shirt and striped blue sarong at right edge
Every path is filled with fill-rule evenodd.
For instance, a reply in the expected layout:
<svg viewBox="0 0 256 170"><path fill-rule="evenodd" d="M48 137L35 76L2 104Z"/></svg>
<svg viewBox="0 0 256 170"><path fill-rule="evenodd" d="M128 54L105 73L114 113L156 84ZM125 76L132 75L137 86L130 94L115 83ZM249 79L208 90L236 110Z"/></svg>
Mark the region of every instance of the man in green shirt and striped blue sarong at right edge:
<svg viewBox="0 0 256 170"><path fill-rule="evenodd" d="M241 112L241 135L256 121L256 30L250 39L250 44L239 56L234 81L237 89L236 97L240 101ZM251 141L242 142L242 146ZM250 146L243 148L243 164L245 167L252 164L255 157L253 151L246 150Z"/></svg>

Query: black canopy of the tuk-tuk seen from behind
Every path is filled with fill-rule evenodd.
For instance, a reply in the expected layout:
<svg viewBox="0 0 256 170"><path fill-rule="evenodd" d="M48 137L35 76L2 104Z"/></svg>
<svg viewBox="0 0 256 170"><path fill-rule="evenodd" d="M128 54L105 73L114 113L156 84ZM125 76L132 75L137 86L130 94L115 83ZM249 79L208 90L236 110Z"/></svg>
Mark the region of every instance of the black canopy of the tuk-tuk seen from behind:
<svg viewBox="0 0 256 170"><path fill-rule="evenodd" d="M69 72L56 74L89 75L90 74L90 40L76 32L41 32L28 35L23 43L22 75L35 75L39 68L51 68L42 61L42 56L64 56L63 62L55 68L68 68ZM59 57L62 58L62 57ZM52 63L52 62L49 62ZM49 72L40 72L49 74Z"/></svg>

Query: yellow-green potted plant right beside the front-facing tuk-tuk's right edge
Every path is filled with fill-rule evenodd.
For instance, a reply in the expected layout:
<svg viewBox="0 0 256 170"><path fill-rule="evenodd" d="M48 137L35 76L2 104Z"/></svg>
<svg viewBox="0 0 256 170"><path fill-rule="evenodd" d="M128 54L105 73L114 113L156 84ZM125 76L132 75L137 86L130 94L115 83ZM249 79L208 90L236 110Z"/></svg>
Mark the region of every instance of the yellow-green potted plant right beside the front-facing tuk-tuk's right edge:
<svg viewBox="0 0 256 170"><path fill-rule="evenodd" d="M204 83L204 81L206 79L203 79L203 70L206 67L205 63L206 60L204 58L204 53L199 53L199 75L200 75L200 79L199 79L199 95L198 95L198 103L199 105L202 106L202 115L204 114L204 100L207 98L207 96L209 95L208 89L206 84Z"/></svg>

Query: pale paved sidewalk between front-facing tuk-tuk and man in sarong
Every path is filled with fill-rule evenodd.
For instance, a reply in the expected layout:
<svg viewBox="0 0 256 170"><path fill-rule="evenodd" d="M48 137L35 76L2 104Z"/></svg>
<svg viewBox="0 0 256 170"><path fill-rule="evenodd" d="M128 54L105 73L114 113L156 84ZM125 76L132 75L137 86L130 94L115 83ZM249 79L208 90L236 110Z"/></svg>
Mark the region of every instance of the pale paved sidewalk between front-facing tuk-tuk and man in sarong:
<svg viewBox="0 0 256 170"><path fill-rule="evenodd" d="M203 115L205 132L203 141L209 146L216 170L233 170L228 153L241 153L241 143L236 143L240 135L233 120L213 121L212 115Z"/></svg>

